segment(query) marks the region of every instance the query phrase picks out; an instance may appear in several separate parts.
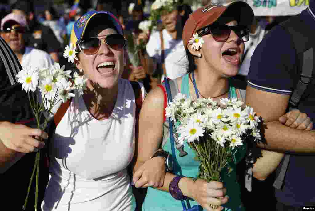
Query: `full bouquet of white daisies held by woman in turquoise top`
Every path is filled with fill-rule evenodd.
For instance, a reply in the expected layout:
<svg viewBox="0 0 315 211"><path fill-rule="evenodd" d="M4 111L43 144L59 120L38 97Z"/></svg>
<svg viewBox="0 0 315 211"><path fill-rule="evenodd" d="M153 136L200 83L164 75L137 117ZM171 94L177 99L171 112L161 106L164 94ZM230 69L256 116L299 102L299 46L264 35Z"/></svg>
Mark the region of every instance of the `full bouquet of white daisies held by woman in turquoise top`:
<svg viewBox="0 0 315 211"><path fill-rule="evenodd" d="M165 110L175 122L176 148L187 142L200 161L198 178L207 182L221 181L223 168L228 173L232 171L229 163L235 160L238 147L245 141L261 140L261 117L236 98L218 103L210 98L187 99L179 93Z"/></svg>

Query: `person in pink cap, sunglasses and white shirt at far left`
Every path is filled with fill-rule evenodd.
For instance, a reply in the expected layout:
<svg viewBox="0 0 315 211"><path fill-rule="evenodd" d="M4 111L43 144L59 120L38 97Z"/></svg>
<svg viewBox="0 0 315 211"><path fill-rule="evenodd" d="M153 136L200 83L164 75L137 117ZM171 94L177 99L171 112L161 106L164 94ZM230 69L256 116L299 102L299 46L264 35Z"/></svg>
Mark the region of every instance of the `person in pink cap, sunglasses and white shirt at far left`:
<svg viewBox="0 0 315 211"><path fill-rule="evenodd" d="M38 68L52 66L54 60L48 53L25 46L23 34L27 29L26 19L22 15L10 13L1 20L1 37L12 48L22 68L26 66Z"/></svg>

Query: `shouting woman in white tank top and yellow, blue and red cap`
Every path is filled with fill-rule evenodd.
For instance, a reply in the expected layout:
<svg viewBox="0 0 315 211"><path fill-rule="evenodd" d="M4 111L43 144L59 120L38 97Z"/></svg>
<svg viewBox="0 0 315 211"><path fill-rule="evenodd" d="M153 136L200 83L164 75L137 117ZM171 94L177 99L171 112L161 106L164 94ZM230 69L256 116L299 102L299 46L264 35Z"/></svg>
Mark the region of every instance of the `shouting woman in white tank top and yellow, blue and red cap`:
<svg viewBox="0 0 315 211"><path fill-rule="evenodd" d="M146 92L121 78L125 44L111 13L89 11L74 23L64 56L87 82L62 105L66 111L51 137L43 211L135 210L127 167L135 151L136 103Z"/></svg>

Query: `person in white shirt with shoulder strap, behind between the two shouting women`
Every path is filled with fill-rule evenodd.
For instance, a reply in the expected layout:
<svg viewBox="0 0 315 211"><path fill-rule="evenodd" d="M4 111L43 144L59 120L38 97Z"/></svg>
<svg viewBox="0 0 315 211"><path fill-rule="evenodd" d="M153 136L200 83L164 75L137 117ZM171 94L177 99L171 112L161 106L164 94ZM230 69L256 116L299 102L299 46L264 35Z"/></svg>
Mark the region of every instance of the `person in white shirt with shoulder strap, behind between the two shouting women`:
<svg viewBox="0 0 315 211"><path fill-rule="evenodd" d="M182 31L192 10L189 5L180 3L182 1L178 2L173 2L174 9L172 11L165 9L164 6L158 8L162 13L161 20L164 27L162 30L164 58L162 55L160 31L155 31L151 35L140 33L138 36L138 43L140 43L140 40L147 43L146 52L149 57L160 65L164 63L166 72L163 72L163 77L167 76L171 79L186 74L188 64L182 40Z"/></svg>

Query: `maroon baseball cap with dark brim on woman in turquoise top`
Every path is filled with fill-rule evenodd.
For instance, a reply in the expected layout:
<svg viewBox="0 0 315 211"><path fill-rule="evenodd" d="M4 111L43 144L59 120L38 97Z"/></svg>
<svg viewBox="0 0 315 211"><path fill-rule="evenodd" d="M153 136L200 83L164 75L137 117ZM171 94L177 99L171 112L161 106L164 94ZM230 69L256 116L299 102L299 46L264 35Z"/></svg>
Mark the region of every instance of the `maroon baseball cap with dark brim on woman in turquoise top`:
<svg viewBox="0 0 315 211"><path fill-rule="evenodd" d="M253 9L244 1L234 1L227 6L210 3L207 6L195 10L186 21L183 30L183 43L185 48L196 31L214 23L223 14L235 17L239 25L248 27L250 27L255 19Z"/></svg>

